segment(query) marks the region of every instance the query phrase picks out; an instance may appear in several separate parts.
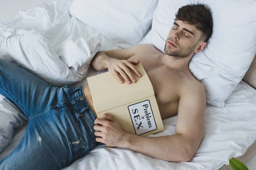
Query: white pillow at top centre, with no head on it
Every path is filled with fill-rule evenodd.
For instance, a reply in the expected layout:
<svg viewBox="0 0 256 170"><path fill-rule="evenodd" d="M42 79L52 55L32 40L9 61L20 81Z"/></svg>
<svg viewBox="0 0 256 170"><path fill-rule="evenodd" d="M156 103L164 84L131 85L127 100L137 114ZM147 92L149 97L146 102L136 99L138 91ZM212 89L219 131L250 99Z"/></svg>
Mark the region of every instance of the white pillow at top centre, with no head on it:
<svg viewBox="0 0 256 170"><path fill-rule="evenodd" d="M115 45L128 48L152 23L158 0L74 0L70 14L98 29Z"/></svg>

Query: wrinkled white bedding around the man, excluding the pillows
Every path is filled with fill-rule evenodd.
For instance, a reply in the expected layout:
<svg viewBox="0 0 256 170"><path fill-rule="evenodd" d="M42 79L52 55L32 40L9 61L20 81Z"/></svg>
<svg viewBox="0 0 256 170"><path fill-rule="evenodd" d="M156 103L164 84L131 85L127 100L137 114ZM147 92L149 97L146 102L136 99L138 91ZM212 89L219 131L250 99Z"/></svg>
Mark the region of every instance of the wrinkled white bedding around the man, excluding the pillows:
<svg viewBox="0 0 256 170"><path fill-rule="evenodd" d="M70 3L71 0L43 3L1 23L0 58L17 63L57 86L84 85L86 77L102 73L89 67L93 54L120 47L71 17ZM255 103L256 90L241 81L224 108L207 105L204 138L190 162L163 161L125 148L101 145L64 169L217 170L228 164L230 158L243 155L256 140ZM23 137L27 120L3 96L0 96L0 117L0 143L8 144L13 137L7 147L0 145L1 160ZM176 120L177 116L163 120L165 130L150 136L175 135Z"/></svg>

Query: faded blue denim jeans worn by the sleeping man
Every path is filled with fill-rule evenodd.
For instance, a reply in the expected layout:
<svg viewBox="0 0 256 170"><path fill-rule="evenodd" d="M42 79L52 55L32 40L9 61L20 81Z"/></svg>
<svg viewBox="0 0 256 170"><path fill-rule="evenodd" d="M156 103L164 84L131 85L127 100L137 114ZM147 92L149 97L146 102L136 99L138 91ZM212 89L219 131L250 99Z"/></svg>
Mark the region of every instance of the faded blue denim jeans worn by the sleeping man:
<svg viewBox="0 0 256 170"><path fill-rule="evenodd" d="M0 170L57 170L96 146L96 116L83 86L58 88L0 59L0 94L26 115L29 123L17 147L0 161Z"/></svg>

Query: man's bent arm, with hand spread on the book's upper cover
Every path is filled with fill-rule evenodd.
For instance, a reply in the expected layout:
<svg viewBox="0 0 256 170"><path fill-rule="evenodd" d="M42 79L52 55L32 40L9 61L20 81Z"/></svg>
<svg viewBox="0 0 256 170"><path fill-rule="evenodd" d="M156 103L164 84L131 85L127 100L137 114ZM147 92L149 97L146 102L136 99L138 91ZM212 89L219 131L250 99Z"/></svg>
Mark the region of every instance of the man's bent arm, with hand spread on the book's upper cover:
<svg viewBox="0 0 256 170"><path fill-rule="evenodd" d="M116 79L123 83L123 80L119 77L120 74L128 84L136 82L130 69L133 70L138 77L141 77L140 72L134 67L134 65L139 64L139 60L127 61L130 57L134 56L137 51L145 48L147 44L136 45L130 48L109 50L109 51L99 51L93 57L91 65L97 71L103 71L108 69L108 71L113 74ZM135 81L134 81L135 79Z"/></svg>

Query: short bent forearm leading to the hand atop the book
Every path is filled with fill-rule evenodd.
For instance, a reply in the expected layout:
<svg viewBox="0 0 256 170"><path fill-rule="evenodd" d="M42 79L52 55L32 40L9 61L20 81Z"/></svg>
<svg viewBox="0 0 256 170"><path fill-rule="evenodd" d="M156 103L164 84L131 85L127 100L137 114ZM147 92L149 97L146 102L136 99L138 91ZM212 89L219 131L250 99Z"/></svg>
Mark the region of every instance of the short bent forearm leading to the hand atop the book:
<svg viewBox="0 0 256 170"><path fill-rule="evenodd" d="M91 61L91 65L96 71L103 71L108 69L108 62L113 59L111 57L108 57L107 53L104 51L99 51L96 53L96 55L93 57Z"/></svg>

